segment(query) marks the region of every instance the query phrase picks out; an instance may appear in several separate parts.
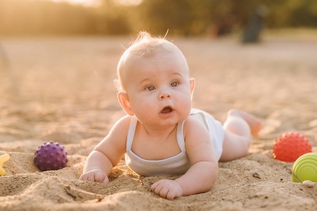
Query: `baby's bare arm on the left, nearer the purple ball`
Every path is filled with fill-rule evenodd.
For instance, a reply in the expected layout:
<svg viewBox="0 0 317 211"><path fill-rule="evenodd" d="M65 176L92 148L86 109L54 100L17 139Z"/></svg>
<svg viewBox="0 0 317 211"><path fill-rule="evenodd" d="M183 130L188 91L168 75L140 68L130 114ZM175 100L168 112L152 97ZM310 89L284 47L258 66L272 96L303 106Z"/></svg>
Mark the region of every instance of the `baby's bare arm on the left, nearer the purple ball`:
<svg viewBox="0 0 317 211"><path fill-rule="evenodd" d="M89 154L81 180L108 183L112 167L116 166L126 152L126 140L130 116L118 120L109 134Z"/></svg>

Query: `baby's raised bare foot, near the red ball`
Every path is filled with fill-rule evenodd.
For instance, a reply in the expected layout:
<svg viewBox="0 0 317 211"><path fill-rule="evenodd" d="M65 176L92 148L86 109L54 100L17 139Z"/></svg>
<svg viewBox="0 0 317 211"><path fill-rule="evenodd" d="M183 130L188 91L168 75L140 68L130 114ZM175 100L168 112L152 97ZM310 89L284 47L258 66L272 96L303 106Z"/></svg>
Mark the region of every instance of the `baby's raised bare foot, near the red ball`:
<svg viewBox="0 0 317 211"><path fill-rule="evenodd" d="M236 109L231 109L228 111L228 116L239 116L242 117L250 126L251 134L255 138L259 137L259 132L262 129L262 122L260 119L255 117L252 114L249 114L247 112L241 111L241 110L236 110Z"/></svg>

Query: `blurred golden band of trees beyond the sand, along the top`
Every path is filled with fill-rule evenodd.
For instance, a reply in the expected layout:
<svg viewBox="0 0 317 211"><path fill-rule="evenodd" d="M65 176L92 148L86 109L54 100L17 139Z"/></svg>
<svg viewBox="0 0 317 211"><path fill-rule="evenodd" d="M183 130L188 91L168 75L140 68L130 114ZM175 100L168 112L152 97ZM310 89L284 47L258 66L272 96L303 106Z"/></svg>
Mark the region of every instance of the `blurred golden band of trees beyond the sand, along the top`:
<svg viewBox="0 0 317 211"><path fill-rule="evenodd" d="M1 0L0 35L222 36L317 26L315 0ZM252 28L252 27L251 27ZM248 37L245 37L248 39Z"/></svg>

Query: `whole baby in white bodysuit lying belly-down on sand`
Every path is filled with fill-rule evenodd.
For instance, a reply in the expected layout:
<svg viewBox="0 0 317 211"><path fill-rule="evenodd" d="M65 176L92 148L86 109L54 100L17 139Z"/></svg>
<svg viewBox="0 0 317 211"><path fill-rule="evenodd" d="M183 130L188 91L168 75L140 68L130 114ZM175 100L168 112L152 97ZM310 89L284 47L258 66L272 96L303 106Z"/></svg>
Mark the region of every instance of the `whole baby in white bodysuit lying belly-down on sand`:
<svg viewBox="0 0 317 211"><path fill-rule="evenodd" d="M151 186L163 198L203 193L217 179L218 160L248 155L251 135L261 130L259 119L240 110L228 111L222 126L192 109L195 80L182 52L165 38L140 32L122 55L117 75L118 101L128 115L90 153L81 180L108 183L125 155L141 176L182 175Z"/></svg>

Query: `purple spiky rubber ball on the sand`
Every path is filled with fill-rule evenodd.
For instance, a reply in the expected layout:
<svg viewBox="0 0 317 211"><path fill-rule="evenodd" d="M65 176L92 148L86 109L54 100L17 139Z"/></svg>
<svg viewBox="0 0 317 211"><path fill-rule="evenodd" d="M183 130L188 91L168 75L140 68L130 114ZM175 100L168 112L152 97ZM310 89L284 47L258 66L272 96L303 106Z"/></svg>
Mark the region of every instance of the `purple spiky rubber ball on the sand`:
<svg viewBox="0 0 317 211"><path fill-rule="evenodd" d="M67 152L58 142L44 143L35 152L35 165L42 171L59 170L67 163Z"/></svg>

